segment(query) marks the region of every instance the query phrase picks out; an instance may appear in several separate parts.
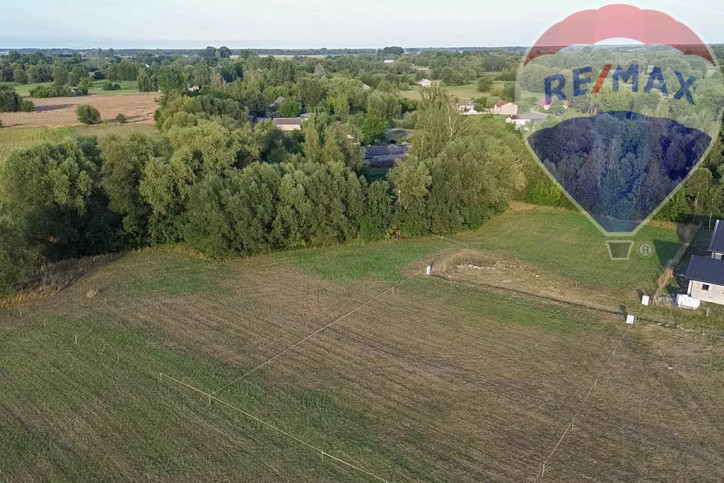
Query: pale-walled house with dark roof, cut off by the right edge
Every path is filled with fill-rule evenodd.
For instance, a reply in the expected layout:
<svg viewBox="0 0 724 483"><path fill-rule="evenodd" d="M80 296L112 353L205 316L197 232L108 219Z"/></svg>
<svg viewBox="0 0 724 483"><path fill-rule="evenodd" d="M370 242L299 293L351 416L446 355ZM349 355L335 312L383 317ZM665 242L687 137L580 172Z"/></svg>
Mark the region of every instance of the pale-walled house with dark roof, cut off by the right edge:
<svg viewBox="0 0 724 483"><path fill-rule="evenodd" d="M709 243L711 257L694 255L686 269L687 295L704 302L724 305L724 223L717 220Z"/></svg>

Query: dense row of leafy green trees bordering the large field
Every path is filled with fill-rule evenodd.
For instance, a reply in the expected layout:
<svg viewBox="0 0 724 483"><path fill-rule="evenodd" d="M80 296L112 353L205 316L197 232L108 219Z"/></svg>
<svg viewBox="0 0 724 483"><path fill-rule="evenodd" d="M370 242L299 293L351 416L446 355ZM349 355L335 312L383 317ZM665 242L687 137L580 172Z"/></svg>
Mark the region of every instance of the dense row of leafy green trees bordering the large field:
<svg viewBox="0 0 724 483"><path fill-rule="evenodd" d="M287 134L249 123L228 99L169 95L158 135L68 139L6 158L3 291L46 261L152 244L226 257L448 233L479 226L521 187L517 134L462 118L442 88L425 96L413 154L374 182L334 115ZM385 102L375 109L396 112ZM481 135L491 128L497 135Z"/></svg>

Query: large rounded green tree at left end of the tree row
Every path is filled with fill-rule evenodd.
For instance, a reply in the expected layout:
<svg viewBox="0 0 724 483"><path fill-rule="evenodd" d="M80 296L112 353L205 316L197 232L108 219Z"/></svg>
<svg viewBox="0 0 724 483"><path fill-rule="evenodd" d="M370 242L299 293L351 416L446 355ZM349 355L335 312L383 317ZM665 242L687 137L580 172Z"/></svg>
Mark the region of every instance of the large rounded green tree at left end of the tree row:
<svg viewBox="0 0 724 483"><path fill-rule="evenodd" d="M80 138L14 151L0 168L5 213L45 258L118 247L120 222L99 188L100 163L95 141Z"/></svg>

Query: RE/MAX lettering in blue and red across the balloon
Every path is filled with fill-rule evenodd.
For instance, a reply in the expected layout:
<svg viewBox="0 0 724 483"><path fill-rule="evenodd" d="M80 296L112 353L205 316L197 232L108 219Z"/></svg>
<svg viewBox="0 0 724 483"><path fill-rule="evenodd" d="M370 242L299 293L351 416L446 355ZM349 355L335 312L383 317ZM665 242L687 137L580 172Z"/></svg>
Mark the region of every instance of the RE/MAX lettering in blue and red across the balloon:
<svg viewBox="0 0 724 483"><path fill-rule="evenodd" d="M591 89L591 94L596 94L598 93L598 91L601 90L603 83L608 77L608 73L611 71L611 67L613 67L613 64L606 64L603 66L601 73L598 75L598 80L596 81L596 84L593 86L593 89ZM592 67L581 67L579 69L573 69L574 97L582 96L588 93L588 89L584 86L591 83L591 78L586 76L586 74L590 74L592 71ZM676 74L676 79L679 81L679 90L676 92L676 94L674 94L674 99L678 100L681 99L683 96L686 96L686 100L688 100L690 104L694 104L694 98L692 97L691 91L689 91L689 89L694 84L694 81L696 81L696 78L689 77L687 80L684 80L684 76L681 74L681 72L674 72L674 74ZM611 81L613 82L613 92L618 92L619 82L626 83L629 81L631 81L631 91L638 92L639 66L636 64L632 64L629 66L628 69L623 70L623 67L619 65L613 72ZM554 82L557 82L557 84L554 85ZM546 77L546 104L550 104L552 102L553 94L555 94L558 99L562 101L565 100L566 95L563 94L563 88L565 87L565 85L566 78L563 76L563 74L555 74ZM646 87L644 87L644 93L648 94L649 92L651 92L652 89L658 89L664 96L669 96L669 91L666 88L666 82L664 82L664 74L661 72L660 67L654 66L653 69L651 69L651 74L649 74L649 78L646 81Z"/></svg>

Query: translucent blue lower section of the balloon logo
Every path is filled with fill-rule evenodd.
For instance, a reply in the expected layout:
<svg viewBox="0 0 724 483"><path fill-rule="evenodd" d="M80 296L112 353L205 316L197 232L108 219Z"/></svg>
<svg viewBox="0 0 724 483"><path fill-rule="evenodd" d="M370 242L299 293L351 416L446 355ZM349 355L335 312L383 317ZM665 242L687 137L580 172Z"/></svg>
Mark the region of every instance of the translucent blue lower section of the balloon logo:
<svg viewBox="0 0 724 483"><path fill-rule="evenodd" d="M710 142L698 129L629 111L567 119L528 138L553 177L609 233L634 231Z"/></svg>

